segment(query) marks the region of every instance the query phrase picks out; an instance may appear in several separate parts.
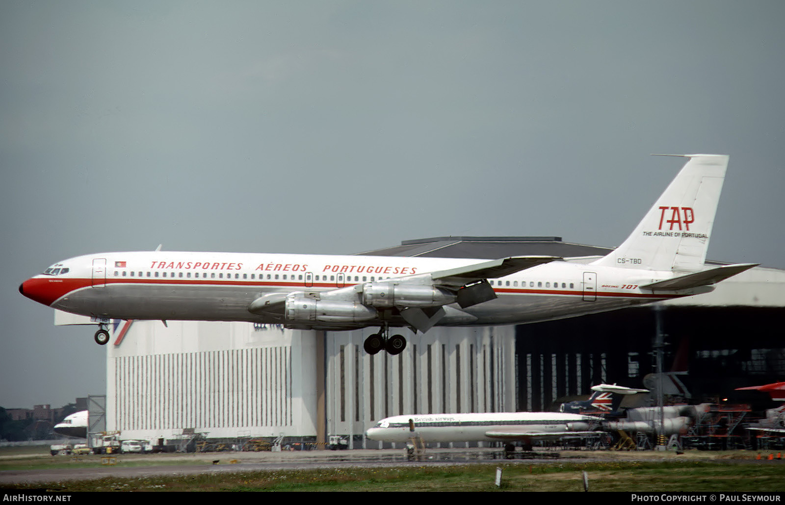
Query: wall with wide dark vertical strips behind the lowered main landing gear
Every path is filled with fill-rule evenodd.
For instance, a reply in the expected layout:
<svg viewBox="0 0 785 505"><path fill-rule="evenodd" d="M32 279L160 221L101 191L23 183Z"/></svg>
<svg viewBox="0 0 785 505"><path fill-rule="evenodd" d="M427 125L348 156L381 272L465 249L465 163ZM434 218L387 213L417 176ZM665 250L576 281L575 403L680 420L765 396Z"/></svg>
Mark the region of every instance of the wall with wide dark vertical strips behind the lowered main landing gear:
<svg viewBox="0 0 785 505"><path fill-rule="evenodd" d="M517 378L511 368L512 326L431 329L407 335L408 345L397 356L381 352L358 358L355 349L372 332L326 334L327 434L362 435L389 416L514 409L515 387L505 383ZM378 444L363 439L363 446Z"/></svg>

